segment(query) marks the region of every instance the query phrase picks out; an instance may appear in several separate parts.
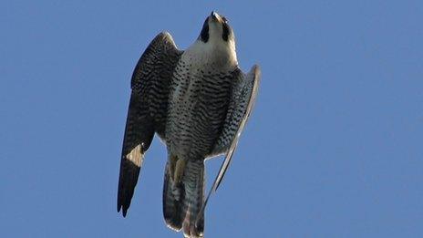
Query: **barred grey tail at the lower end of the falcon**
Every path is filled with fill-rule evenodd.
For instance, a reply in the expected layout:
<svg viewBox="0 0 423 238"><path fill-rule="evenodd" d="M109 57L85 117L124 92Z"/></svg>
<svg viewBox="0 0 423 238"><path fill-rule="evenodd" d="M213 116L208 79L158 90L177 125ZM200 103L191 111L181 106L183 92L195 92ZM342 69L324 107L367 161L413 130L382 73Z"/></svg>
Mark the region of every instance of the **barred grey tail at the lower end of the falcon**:
<svg viewBox="0 0 423 238"><path fill-rule="evenodd" d="M184 163L181 181L170 175L171 162L165 169L163 186L163 215L168 226L181 231L185 237L202 237L204 212L198 214L204 202L204 161L188 160Z"/></svg>

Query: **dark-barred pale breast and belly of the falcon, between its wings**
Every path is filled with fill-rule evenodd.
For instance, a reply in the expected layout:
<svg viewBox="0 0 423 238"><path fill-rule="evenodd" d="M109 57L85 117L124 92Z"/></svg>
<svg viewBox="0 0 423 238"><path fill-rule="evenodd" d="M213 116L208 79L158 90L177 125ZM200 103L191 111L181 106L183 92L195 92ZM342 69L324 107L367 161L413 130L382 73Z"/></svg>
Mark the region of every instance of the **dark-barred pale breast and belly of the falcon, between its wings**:
<svg viewBox="0 0 423 238"><path fill-rule="evenodd" d="M231 98L232 72L180 60L170 84L167 144L180 158L204 159L220 133Z"/></svg>

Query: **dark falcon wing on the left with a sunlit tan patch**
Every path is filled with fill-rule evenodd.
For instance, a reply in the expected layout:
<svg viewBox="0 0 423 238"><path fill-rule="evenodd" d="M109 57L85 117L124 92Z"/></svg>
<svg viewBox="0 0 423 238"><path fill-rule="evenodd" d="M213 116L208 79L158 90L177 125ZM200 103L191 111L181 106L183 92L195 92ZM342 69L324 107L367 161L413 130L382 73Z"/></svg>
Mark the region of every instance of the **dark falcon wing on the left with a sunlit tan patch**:
<svg viewBox="0 0 423 238"><path fill-rule="evenodd" d="M143 154L154 132L164 138L170 80L181 53L169 33L160 33L134 69L120 160L118 212L122 209L123 216L129 209Z"/></svg>

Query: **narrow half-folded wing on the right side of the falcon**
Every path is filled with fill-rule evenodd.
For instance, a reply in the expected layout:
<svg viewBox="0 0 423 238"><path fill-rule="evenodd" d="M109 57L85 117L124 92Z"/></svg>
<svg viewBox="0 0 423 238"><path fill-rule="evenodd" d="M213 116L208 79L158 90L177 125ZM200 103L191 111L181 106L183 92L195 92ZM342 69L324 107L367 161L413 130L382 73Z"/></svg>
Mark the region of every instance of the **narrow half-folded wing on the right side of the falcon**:
<svg viewBox="0 0 423 238"><path fill-rule="evenodd" d="M233 80L234 85L232 86L232 98L228 114L223 125L222 135L218 139L216 147L214 148L215 154L219 154L221 151L224 151L226 152L226 157L225 160L223 160L221 170L211 187L211 191L209 191L209 194L203 203L203 207L205 207L207 201L209 200L211 192L218 189L223 176L228 169L233 152L235 151L238 140L240 139L242 129L253 109L260 78L260 67L255 65L247 75L243 74L242 71L239 70L239 73Z"/></svg>

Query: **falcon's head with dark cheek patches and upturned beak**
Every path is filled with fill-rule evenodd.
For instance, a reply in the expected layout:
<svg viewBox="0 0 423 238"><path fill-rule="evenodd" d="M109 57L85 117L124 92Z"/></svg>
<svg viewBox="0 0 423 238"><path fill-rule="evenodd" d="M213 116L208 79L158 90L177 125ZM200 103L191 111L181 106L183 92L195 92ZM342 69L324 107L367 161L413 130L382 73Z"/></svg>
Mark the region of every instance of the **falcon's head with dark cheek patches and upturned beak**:
<svg viewBox="0 0 423 238"><path fill-rule="evenodd" d="M198 40L206 45L230 47L235 50L235 36L232 27L229 26L224 16L220 16L214 11L204 21Z"/></svg>

